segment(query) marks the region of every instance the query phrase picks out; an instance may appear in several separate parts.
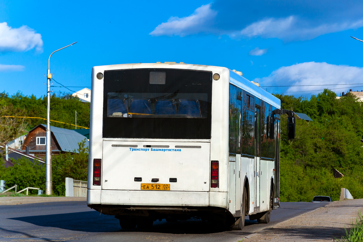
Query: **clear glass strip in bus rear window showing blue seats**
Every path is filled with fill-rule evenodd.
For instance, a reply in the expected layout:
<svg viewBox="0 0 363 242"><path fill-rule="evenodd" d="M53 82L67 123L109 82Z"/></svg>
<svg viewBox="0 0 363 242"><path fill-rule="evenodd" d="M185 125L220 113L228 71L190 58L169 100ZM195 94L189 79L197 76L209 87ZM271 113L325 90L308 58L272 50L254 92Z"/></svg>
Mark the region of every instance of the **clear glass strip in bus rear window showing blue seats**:
<svg viewBox="0 0 363 242"><path fill-rule="evenodd" d="M110 118L207 118L207 93L108 93Z"/></svg>

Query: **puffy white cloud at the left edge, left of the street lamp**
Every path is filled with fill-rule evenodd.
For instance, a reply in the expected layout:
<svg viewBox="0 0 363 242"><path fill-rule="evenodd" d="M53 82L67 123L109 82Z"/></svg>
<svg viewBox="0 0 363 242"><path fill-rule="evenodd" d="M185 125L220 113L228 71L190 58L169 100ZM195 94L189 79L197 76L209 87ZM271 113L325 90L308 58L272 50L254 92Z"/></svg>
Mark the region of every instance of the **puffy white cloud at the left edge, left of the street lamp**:
<svg viewBox="0 0 363 242"><path fill-rule="evenodd" d="M0 51L42 51L42 36L26 25L11 28L7 22L0 23Z"/></svg>

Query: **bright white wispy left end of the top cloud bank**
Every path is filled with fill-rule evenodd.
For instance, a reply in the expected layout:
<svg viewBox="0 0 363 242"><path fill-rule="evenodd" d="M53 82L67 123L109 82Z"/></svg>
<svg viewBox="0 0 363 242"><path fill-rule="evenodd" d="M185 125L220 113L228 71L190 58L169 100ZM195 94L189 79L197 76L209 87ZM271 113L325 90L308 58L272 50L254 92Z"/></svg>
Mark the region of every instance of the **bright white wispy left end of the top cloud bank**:
<svg viewBox="0 0 363 242"><path fill-rule="evenodd" d="M152 36L179 35L184 37L188 34L204 32L205 27L212 24L216 15L217 12L211 9L210 3L202 5L188 17L170 17L167 22L156 26L150 34Z"/></svg>

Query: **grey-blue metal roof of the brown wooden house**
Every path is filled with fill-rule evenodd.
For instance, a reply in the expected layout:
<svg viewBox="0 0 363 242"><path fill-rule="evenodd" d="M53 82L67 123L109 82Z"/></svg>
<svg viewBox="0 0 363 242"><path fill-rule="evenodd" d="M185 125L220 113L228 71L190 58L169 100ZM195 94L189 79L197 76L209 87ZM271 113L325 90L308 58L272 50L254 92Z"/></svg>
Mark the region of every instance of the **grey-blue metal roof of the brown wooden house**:
<svg viewBox="0 0 363 242"><path fill-rule="evenodd" d="M46 128L45 124L41 124ZM78 143L86 139L85 148L88 147L88 140L86 136L79 134L74 130L68 130L66 128L58 128L50 126L50 131L53 133L62 151L73 152L79 148ZM78 153L78 152L77 152Z"/></svg>

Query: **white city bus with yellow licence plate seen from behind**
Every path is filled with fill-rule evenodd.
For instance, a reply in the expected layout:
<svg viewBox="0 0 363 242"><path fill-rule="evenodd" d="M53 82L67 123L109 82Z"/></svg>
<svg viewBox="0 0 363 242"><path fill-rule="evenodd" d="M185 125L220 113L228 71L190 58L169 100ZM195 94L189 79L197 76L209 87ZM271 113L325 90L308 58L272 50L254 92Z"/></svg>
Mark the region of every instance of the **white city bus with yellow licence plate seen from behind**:
<svg viewBox="0 0 363 242"><path fill-rule="evenodd" d="M87 204L123 229L201 218L233 229L279 206L280 99L226 67L92 68Z"/></svg>

